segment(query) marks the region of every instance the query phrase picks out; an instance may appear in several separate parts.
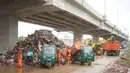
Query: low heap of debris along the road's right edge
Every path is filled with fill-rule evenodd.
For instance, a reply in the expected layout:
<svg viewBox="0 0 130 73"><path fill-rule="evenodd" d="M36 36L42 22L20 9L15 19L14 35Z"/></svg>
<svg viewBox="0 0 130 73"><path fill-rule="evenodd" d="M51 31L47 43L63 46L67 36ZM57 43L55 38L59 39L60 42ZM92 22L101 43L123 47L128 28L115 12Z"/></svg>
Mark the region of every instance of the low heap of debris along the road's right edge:
<svg viewBox="0 0 130 73"><path fill-rule="evenodd" d="M128 73L130 67L129 52L123 54L117 61L110 63L103 73Z"/></svg>

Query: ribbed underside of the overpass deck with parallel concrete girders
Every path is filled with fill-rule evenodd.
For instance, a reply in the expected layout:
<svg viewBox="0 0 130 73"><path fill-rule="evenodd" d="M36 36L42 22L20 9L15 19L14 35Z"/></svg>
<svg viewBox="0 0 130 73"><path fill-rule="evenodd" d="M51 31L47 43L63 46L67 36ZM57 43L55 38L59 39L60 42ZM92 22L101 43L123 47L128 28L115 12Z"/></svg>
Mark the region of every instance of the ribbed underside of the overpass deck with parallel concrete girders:
<svg viewBox="0 0 130 73"><path fill-rule="evenodd" d="M20 20L53 27L59 31L73 31L75 28L81 28L82 30L97 28L91 23L65 11L42 12L25 18L20 18Z"/></svg>

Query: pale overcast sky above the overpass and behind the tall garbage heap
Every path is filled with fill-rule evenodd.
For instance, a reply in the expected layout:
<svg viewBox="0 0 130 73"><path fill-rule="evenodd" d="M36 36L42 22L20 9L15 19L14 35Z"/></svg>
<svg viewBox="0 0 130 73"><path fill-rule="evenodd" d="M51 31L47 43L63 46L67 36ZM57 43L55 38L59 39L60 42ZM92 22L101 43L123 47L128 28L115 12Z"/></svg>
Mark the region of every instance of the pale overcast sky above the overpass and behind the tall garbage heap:
<svg viewBox="0 0 130 73"><path fill-rule="evenodd" d="M104 15L104 0L86 1L100 14ZM130 34L130 0L106 0L106 16L107 19L110 20L113 24L117 25L124 32ZM117 19L117 17L119 17L119 19ZM119 20L119 22L117 22L117 20ZM19 22L18 28L19 36L27 36L27 34L33 33L36 29L45 28L53 30L52 28L31 25L24 22ZM53 33L55 33L55 31Z"/></svg>

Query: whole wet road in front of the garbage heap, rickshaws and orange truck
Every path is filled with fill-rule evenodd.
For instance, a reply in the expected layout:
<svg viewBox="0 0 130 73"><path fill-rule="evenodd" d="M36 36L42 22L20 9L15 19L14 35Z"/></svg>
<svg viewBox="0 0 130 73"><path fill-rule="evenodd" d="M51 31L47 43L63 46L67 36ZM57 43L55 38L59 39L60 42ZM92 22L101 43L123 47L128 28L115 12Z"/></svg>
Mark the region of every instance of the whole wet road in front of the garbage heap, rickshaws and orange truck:
<svg viewBox="0 0 130 73"><path fill-rule="evenodd" d="M17 67L0 67L0 73L102 73L103 69L117 60L117 56L96 56L96 61L92 66L87 65L61 65L51 69L46 68L17 68Z"/></svg>

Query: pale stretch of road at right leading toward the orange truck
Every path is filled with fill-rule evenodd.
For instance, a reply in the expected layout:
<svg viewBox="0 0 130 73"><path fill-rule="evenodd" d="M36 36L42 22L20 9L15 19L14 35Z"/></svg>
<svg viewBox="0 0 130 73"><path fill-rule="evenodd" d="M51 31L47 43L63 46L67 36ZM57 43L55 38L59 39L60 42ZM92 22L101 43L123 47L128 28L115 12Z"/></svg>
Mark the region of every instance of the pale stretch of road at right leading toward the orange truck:
<svg viewBox="0 0 130 73"><path fill-rule="evenodd" d="M109 65L109 63L113 63L119 57L104 56L103 58L99 58L100 59L96 60L92 66L87 68L80 68L72 73L102 73L105 67Z"/></svg>

